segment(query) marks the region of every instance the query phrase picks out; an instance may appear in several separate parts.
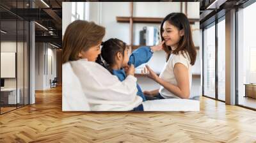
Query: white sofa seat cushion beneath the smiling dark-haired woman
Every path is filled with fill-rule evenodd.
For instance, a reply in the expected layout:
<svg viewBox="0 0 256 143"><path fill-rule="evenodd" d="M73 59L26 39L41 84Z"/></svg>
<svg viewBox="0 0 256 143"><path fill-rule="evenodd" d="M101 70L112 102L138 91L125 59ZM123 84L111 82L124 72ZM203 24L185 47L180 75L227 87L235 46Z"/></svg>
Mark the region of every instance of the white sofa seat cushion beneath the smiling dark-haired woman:
<svg viewBox="0 0 256 143"><path fill-rule="evenodd" d="M143 102L145 111L199 111L200 102L198 100L187 99L164 99L148 100Z"/></svg>

